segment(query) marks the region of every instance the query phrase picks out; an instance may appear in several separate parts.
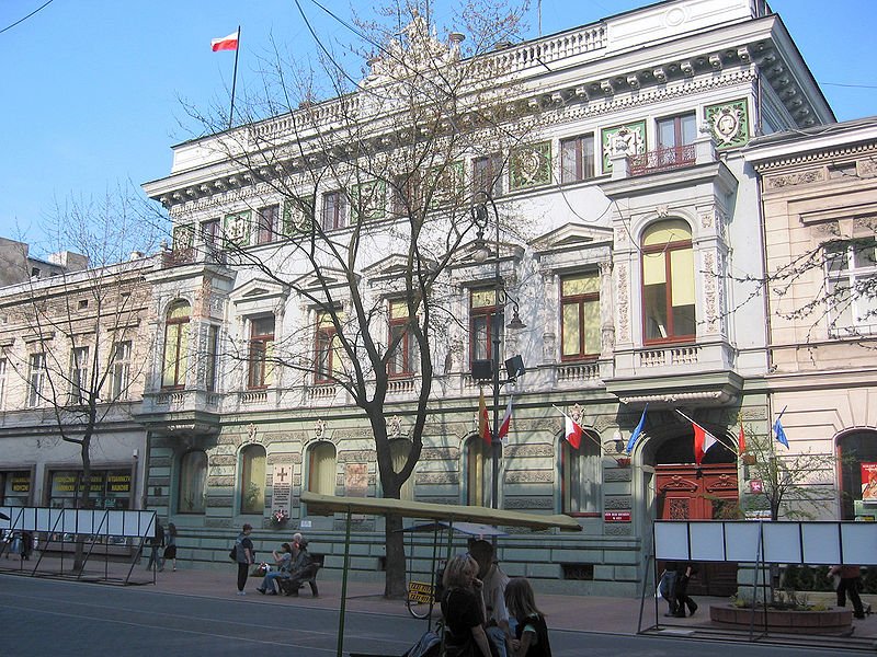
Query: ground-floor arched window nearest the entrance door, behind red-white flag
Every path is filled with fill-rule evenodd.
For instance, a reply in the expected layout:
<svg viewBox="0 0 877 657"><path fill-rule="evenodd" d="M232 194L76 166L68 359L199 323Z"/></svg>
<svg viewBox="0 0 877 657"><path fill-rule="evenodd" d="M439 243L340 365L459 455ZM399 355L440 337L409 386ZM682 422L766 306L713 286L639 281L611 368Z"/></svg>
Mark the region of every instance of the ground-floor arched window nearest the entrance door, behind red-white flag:
<svg viewBox="0 0 877 657"><path fill-rule="evenodd" d="M595 434L583 430L579 448L560 439L560 511L577 516L600 512L600 442Z"/></svg>

